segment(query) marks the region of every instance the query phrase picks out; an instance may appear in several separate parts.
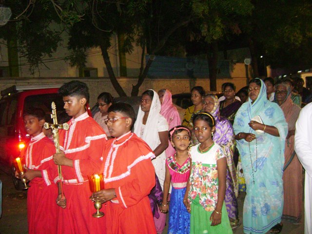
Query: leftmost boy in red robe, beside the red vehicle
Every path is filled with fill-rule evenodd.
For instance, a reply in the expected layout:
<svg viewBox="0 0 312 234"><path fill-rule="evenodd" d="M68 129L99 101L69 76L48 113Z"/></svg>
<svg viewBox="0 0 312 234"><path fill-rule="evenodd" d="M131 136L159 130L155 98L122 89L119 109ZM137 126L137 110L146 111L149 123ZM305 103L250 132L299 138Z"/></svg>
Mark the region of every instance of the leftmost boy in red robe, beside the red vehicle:
<svg viewBox="0 0 312 234"><path fill-rule="evenodd" d="M40 108L30 108L23 114L26 132L31 136L22 157L26 172L21 176L30 180L27 193L28 233L57 233L57 210L55 197L58 188L53 182L57 166L52 156L54 143L42 132L45 113Z"/></svg>

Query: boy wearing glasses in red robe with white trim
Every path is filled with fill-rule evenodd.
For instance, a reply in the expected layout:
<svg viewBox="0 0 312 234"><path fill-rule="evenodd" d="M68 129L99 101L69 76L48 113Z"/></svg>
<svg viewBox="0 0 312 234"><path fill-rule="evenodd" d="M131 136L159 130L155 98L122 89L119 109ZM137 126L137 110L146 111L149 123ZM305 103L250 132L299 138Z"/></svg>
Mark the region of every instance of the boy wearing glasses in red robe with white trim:
<svg viewBox="0 0 312 234"><path fill-rule="evenodd" d="M105 119L113 139L105 149L105 189L92 195L106 204L107 233L156 234L148 194L155 186L150 147L131 133L135 112L126 103L113 104Z"/></svg>

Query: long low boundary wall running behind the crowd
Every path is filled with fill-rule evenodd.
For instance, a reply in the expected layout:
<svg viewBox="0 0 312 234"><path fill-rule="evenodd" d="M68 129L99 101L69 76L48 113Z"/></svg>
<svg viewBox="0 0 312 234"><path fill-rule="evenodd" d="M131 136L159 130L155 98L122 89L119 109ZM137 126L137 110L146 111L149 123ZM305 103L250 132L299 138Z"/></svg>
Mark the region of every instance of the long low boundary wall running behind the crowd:
<svg viewBox="0 0 312 234"><path fill-rule="evenodd" d="M121 87L125 90L126 94L130 96L132 84L137 83L137 78L117 78ZM80 80L88 84L90 90L90 105L93 106L97 102L97 97L102 92L109 92L113 97L118 97L117 92L112 86L109 78L0 78L0 90L4 90L12 85L48 85L48 84L63 84L71 80ZM224 82L233 82L236 89L239 90L245 86L246 78L223 78L217 79L217 92L221 91L221 85ZM177 85L178 83L178 85ZM210 82L207 78L190 79L190 78L146 78L140 87L139 95L147 89L169 89L172 94L190 93L192 87L201 85L209 92Z"/></svg>

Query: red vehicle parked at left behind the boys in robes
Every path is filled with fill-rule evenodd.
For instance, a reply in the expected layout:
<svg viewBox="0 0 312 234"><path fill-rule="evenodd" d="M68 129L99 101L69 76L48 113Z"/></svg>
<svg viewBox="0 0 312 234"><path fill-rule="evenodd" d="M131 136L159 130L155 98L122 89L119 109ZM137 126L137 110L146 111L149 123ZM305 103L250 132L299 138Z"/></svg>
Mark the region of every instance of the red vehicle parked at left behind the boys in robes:
<svg viewBox="0 0 312 234"><path fill-rule="evenodd" d="M45 113L51 114L51 103L54 101L57 110L63 110L63 100L58 90L61 85L26 85L11 86L1 91L0 99L0 162L12 165L13 160L20 156L30 136L26 133L23 112L29 107L40 107ZM14 176L16 189L23 184Z"/></svg>

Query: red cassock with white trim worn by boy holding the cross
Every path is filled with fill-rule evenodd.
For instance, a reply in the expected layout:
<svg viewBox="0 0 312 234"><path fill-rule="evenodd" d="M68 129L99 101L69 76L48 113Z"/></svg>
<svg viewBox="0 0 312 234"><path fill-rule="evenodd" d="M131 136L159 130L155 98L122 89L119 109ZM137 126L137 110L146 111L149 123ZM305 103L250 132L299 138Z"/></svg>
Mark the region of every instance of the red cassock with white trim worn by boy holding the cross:
<svg viewBox="0 0 312 234"><path fill-rule="evenodd" d="M98 123L85 112L59 131L60 149L74 167L62 166L66 208L59 208L59 234L103 234L105 216L95 218L88 176L101 173L107 137ZM57 177L56 180L59 178ZM102 210L104 209L104 206ZM104 211L105 213L105 211Z"/></svg>

